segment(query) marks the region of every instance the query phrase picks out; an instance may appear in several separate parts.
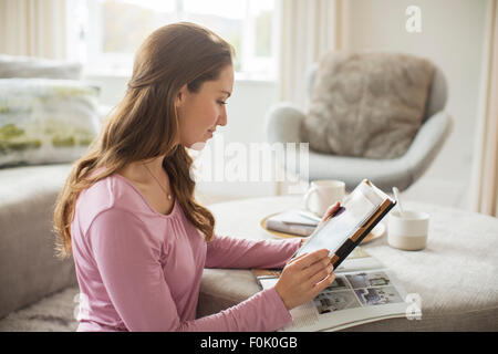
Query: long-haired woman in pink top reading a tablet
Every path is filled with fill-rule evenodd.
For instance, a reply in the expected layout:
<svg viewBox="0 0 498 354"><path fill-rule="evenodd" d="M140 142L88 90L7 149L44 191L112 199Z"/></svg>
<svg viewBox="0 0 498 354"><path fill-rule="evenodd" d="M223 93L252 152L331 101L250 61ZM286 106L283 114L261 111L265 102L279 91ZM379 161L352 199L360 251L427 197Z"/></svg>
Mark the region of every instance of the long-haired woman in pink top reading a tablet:
<svg viewBox="0 0 498 354"><path fill-rule="evenodd" d="M186 147L227 124L232 54L193 23L156 30L136 54L124 98L74 164L54 228L85 300L79 331L274 331L332 283L320 250L290 261L274 288L195 317L205 267L283 267L300 246L215 235L212 215L194 199Z"/></svg>

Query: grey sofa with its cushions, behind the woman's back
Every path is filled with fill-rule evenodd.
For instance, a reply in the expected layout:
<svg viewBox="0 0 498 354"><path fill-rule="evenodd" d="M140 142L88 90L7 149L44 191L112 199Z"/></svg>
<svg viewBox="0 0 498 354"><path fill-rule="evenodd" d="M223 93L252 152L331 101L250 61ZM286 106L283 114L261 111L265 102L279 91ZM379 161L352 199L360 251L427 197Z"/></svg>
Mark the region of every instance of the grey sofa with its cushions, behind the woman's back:
<svg viewBox="0 0 498 354"><path fill-rule="evenodd" d="M17 121L22 121L20 113L28 110L24 101L32 98L34 103L29 110L38 110L35 114L31 114L37 115L38 126L45 131L54 129L52 121L45 124L40 121L43 115L51 114L54 118L58 113L53 102L56 95L53 92L69 97L74 92L83 92L82 88L85 87L90 90L87 92L92 94L92 100L98 93L97 87L81 80L81 73L79 63L0 54L0 128L4 128L0 129L3 133L0 134L0 319L76 284L72 259L60 260L55 257L52 216L56 197L71 169L71 162L86 146L56 136L53 142L61 145L61 154L54 154L55 149L39 149L28 150L23 155L22 148L27 144L15 140L15 136L9 140L6 126L9 127L10 122L9 132L21 135L22 129L12 127ZM34 93L23 96L23 87L24 91L34 90ZM93 114L96 118L92 124L96 131L98 127L95 125L98 125L108 107L85 100L65 100L63 110L73 110L69 117L75 123L82 116ZM73 106L69 107L71 104ZM11 115L7 114L9 110L15 111L13 106L19 110ZM60 114L68 112L59 110ZM81 126L77 128L82 131ZM31 140L41 144L41 138ZM69 143L77 148L68 147Z"/></svg>

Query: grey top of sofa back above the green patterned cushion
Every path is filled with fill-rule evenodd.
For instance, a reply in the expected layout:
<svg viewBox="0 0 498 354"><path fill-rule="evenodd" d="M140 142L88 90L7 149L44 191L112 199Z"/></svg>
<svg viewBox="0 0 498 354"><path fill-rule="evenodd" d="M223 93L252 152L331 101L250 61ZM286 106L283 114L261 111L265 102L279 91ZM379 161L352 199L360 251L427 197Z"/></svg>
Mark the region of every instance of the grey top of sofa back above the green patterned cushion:
<svg viewBox="0 0 498 354"><path fill-rule="evenodd" d="M45 77L80 80L82 65L31 56L0 55L0 79Z"/></svg>

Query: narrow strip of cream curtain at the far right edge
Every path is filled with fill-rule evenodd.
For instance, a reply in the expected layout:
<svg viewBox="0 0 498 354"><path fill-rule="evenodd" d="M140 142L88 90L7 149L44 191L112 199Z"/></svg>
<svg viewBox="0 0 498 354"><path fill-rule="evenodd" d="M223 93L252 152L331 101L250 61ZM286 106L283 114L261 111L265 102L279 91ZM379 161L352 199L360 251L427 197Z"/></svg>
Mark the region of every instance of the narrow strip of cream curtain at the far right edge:
<svg viewBox="0 0 498 354"><path fill-rule="evenodd" d="M498 217L498 0L489 1L471 179L471 208Z"/></svg>

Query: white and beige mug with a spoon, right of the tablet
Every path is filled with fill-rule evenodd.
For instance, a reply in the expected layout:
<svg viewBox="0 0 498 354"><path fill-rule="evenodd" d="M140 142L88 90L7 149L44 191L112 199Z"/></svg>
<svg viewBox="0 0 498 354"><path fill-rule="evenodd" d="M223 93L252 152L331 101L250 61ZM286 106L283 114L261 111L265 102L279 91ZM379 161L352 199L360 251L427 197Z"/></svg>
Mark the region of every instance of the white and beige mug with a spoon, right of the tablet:
<svg viewBox="0 0 498 354"><path fill-rule="evenodd" d="M421 211L391 211L388 219L387 243L407 251L425 248L427 243L429 215Z"/></svg>

